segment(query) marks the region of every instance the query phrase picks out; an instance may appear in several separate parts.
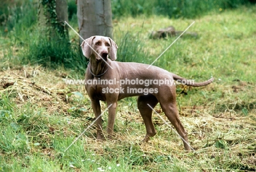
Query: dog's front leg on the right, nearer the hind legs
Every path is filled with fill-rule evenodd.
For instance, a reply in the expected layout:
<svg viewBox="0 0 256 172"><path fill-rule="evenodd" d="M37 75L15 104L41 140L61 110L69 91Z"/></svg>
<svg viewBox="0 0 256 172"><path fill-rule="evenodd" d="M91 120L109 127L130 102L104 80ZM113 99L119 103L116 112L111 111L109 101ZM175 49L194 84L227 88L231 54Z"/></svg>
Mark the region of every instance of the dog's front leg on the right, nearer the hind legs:
<svg viewBox="0 0 256 172"><path fill-rule="evenodd" d="M107 102L108 106L110 104L112 104L112 105L108 109L108 127L107 127L108 139L112 139L112 136L113 136L114 123L115 123L115 112L117 110L117 102Z"/></svg>

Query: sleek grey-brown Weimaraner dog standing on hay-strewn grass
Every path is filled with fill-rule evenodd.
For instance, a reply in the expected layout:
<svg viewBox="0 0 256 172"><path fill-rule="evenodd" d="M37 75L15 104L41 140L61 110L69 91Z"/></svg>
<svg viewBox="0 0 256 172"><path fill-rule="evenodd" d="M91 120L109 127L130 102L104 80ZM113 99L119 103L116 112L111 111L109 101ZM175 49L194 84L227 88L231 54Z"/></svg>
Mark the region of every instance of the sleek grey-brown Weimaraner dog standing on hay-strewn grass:
<svg viewBox="0 0 256 172"><path fill-rule="evenodd" d="M188 145L188 133L185 131L181 121L179 120L178 110L176 106L176 85L175 84L139 84L136 82L131 85L122 81L184 81L188 86L206 86L213 82L213 78L204 82L189 83L187 79L159 67L142 63L132 62L116 62L118 46L115 42L102 36L93 36L83 41L81 44L83 54L90 59L90 63L86 70L85 82L91 80L114 80L115 82L96 84L86 84L85 88L91 99L91 106L94 110L96 118L101 115L100 100L107 103L108 109L108 138L112 139L115 114L118 100L125 97L138 96L138 109L146 126L146 136L143 141L148 141L149 137L156 134L154 124L152 122L152 108L160 103L162 111L164 111L168 120L172 123L178 134L183 138L185 150L190 150ZM109 58L110 60L109 60ZM109 67L110 66L110 67ZM147 69L148 68L148 69ZM120 83L122 82L122 85ZM159 81L160 82L160 81ZM173 82L172 82L173 83ZM183 84L183 82L182 82ZM132 87L132 91L130 88ZM139 90L136 92L136 89ZM112 91L112 92L110 92ZM112 105L111 105L112 104ZM103 139L102 120L101 117L96 121L97 139Z"/></svg>

